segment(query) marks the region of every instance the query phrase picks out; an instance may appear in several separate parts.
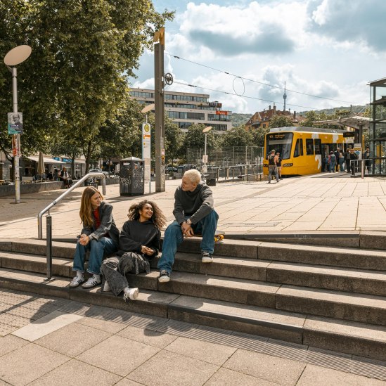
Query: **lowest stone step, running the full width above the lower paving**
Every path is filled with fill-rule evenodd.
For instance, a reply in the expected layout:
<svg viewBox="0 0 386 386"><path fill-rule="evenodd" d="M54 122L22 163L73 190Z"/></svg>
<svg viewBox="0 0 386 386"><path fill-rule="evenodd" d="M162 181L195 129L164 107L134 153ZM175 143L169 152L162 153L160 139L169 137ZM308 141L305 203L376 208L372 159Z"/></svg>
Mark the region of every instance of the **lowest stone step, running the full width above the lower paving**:
<svg viewBox="0 0 386 386"><path fill-rule="evenodd" d="M372 359L386 357L386 328L366 323L338 321L277 309L256 307L221 300L208 300L141 290L135 302L124 302L111 292L101 294L99 288L68 288L70 279L44 281L44 275L0 269L0 287L41 295L160 316L204 326L225 328L252 335L312 345ZM66 311L63 309L63 311ZM68 309L72 312L72 309Z"/></svg>

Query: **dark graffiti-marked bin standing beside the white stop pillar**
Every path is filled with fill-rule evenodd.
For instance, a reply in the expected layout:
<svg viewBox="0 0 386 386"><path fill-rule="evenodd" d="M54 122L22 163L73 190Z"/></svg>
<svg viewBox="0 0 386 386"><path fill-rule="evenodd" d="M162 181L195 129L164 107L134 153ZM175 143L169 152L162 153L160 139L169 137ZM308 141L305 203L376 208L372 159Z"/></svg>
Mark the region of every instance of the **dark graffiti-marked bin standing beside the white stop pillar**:
<svg viewBox="0 0 386 386"><path fill-rule="evenodd" d="M145 162L129 157L120 160L120 195L145 193Z"/></svg>

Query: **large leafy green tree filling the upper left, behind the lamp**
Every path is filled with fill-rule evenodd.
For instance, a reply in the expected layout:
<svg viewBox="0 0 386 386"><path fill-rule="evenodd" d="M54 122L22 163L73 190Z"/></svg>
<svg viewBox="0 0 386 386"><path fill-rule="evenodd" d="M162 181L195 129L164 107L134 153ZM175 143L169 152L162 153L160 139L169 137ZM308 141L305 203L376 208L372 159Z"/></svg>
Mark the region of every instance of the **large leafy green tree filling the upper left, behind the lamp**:
<svg viewBox="0 0 386 386"><path fill-rule="evenodd" d="M50 135L63 131L82 146L88 168L99 130L124 107L139 56L173 14L155 12L150 0L4 0L0 17L2 52L32 46L18 74L22 150L41 150ZM7 72L0 66L0 85L11 90ZM11 91L4 94L3 123L12 101ZM9 138L1 140L9 154Z"/></svg>

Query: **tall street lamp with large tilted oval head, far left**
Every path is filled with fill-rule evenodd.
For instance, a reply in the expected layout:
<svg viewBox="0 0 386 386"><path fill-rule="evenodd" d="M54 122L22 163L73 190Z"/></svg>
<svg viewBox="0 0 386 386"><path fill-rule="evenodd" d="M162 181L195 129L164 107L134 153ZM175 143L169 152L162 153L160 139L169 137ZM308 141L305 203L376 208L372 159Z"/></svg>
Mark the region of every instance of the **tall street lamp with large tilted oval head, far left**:
<svg viewBox="0 0 386 386"><path fill-rule="evenodd" d="M11 51L8 51L4 56L4 63L8 67L8 70L12 72L12 102L13 102L13 114L18 114L18 72L16 67L31 55L32 49L30 46L22 45L17 46ZM20 158L20 134L13 134L13 159L15 165L15 203L20 203L20 170L19 170L19 158Z"/></svg>

